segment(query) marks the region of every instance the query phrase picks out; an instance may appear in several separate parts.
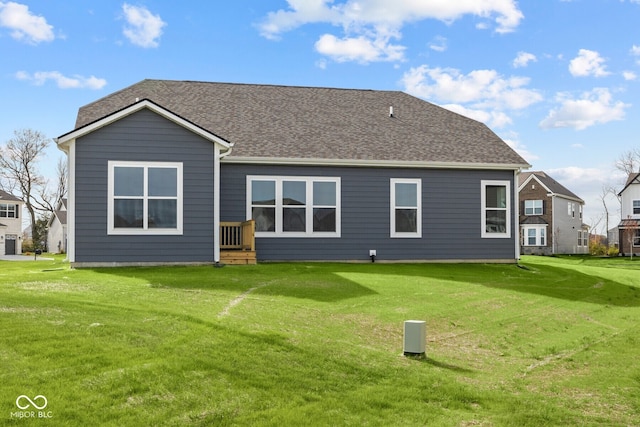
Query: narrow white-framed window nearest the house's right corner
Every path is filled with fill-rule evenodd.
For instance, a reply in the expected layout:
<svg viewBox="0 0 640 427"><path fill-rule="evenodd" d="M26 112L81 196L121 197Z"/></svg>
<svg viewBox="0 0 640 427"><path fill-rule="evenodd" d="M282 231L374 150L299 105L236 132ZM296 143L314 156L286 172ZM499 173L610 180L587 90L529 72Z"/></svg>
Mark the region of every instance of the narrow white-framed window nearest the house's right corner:
<svg viewBox="0 0 640 427"><path fill-rule="evenodd" d="M483 180L480 185L482 237L511 237L511 183Z"/></svg>

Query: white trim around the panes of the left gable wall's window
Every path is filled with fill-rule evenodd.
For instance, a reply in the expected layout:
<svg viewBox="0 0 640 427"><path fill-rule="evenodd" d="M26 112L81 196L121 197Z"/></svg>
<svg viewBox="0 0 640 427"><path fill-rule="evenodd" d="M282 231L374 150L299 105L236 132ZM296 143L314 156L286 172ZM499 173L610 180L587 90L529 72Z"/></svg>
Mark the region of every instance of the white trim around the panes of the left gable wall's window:
<svg viewBox="0 0 640 427"><path fill-rule="evenodd" d="M145 169L144 176L144 199L147 196L147 172L148 168L173 168L177 170L177 218L176 228L116 228L113 224L114 209L114 170L116 167L141 167ZM178 162L134 162L134 161L116 161L108 162L108 181L107 181L107 234L109 235L182 235L183 234L183 185L182 185L182 163ZM167 198L167 197L162 197ZM144 217L147 216L147 204L144 204Z"/></svg>

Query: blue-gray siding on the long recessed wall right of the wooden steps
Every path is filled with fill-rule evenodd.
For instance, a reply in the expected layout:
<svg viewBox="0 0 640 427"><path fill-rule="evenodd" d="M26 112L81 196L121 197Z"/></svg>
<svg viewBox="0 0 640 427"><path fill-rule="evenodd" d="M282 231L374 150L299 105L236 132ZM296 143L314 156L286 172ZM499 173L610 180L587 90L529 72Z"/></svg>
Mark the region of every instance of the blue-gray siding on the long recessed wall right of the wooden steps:
<svg viewBox="0 0 640 427"><path fill-rule="evenodd" d="M341 178L340 238L257 238L258 260L514 260L518 233L481 238L481 181L511 182L513 171L221 165L221 219L246 219L246 176ZM390 238L390 179L422 180L422 238ZM513 212L511 213L513 215Z"/></svg>

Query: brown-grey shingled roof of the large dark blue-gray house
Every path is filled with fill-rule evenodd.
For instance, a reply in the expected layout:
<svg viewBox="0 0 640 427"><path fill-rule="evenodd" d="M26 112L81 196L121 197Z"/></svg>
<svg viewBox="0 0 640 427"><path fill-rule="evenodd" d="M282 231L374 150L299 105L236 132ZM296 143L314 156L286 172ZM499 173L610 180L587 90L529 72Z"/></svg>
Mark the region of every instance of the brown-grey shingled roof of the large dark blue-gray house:
<svg viewBox="0 0 640 427"><path fill-rule="evenodd" d="M400 91L143 80L80 108L76 129L142 99L234 144L228 159L528 167L486 125Z"/></svg>

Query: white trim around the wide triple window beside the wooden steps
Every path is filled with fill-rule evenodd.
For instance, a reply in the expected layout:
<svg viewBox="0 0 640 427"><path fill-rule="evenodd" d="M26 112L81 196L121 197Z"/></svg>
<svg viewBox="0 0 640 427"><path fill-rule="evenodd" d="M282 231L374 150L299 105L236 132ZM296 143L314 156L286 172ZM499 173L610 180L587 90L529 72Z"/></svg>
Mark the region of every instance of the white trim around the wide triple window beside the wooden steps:
<svg viewBox="0 0 640 427"><path fill-rule="evenodd" d="M252 186L254 181L271 181L276 183L276 204L273 206L276 211L276 230L275 231L256 231L256 237L313 237L313 238L339 238L341 237L341 202L342 202L342 189L340 177L326 177L326 176L272 176L272 175L247 175L247 212L246 218L250 220L253 217L252 212ZM283 231L282 230L282 183L284 181L298 181L306 183L306 204L300 205L299 208L304 207L306 231ZM315 206L313 204L313 183L314 182L333 182L336 184L336 231L313 231L313 208L314 207L329 207L325 205ZM331 206L333 207L333 206Z"/></svg>

